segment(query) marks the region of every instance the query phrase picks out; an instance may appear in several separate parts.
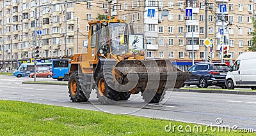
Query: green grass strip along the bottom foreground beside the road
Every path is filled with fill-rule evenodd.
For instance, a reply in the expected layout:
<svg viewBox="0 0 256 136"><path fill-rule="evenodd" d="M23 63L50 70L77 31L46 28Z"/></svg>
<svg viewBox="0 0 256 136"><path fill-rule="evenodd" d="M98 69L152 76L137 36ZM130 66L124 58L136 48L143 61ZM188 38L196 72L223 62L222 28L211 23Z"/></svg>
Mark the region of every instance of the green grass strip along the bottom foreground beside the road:
<svg viewBox="0 0 256 136"><path fill-rule="evenodd" d="M209 130L203 133L166 132L164 128L170 123L195 126L179 121L0 100L1 135L242 135Z"/></svg>

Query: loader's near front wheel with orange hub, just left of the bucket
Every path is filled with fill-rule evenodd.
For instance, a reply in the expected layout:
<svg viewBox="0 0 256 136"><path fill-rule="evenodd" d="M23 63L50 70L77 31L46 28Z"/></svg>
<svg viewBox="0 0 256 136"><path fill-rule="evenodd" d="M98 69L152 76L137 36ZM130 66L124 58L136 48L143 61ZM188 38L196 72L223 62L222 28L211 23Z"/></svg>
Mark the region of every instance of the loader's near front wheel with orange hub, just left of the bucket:
<svg viewBox="0 0 256 136"><path fill-rule="evenodd" d="M101 104L115 104L119 100L119 92L113 90L113 76L111 69L100 71L97 76L97 97Z"/></svg>

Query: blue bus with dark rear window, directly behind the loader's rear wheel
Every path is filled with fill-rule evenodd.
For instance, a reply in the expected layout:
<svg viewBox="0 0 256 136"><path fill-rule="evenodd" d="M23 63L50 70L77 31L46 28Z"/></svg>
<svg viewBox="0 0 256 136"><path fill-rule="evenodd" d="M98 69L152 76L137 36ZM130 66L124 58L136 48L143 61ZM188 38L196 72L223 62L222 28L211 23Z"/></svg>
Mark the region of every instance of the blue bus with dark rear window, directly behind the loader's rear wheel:
<svg viewBox="0 0 256 136"><path fill-rule="evenodd" d="M58 81L68 80L68 59L56 59L52 60L52 78L58 79Z"/></svg>

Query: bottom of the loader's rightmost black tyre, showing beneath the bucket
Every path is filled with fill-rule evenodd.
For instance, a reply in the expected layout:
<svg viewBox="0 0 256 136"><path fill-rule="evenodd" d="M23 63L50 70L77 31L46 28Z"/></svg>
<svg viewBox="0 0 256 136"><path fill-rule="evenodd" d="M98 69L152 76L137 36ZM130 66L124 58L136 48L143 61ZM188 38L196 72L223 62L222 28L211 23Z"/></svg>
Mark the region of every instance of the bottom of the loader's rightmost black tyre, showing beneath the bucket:
<svg viewBox="0 0 256 136"><path fill-rule="evenodd" d="M145 102L158 103L161 100L163 100L163 99L161 99L163 92L164 91L155 92L154 90L146 90L146 91L141 92L141 96L142 96L142 99L145 100ZM164 92L164 94L165 94L165 92ZM152 95L154 95L153 98L152 98Z"/></svg>

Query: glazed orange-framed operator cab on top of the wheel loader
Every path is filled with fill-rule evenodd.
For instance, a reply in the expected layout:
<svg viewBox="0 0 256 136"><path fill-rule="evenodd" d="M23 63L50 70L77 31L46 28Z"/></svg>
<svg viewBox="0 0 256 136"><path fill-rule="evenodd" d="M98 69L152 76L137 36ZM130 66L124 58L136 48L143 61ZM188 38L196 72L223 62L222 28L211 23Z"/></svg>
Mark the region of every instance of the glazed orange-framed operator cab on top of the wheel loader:
<svg viewBox="0 0 256 136"><path fill-rule="evenodd" d="M97 21L90 24L90 47L94 60L108 53L124 55L129 52L127 24L123 20Z"/></svg>

